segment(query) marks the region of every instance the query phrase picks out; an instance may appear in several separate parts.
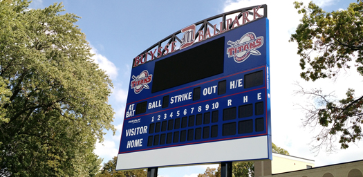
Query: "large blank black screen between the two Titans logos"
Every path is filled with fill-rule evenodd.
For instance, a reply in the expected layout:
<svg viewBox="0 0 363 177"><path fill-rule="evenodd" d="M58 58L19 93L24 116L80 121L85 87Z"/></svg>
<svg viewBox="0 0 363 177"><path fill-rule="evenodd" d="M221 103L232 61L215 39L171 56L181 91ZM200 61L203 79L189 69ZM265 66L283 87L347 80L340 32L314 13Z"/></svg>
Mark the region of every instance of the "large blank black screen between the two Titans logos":
<svg viewBox="0 0 363 177"><path fill-rule="evenodd" d="M220 37L155 62L151 93L223 73L224 40Z"/></svg>

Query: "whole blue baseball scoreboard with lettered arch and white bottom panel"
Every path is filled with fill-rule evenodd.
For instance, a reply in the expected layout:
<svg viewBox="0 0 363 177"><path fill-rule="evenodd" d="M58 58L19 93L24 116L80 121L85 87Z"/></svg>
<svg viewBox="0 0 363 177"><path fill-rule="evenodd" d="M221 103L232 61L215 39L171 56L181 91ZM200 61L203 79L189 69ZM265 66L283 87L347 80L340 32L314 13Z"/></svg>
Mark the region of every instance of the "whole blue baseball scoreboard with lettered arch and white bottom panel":
<svg viewBox="0 0 363 177"><path fill-rule="evenodd" d="M272 159L267 6L231 14L133 59L116 169Z"/></svg>

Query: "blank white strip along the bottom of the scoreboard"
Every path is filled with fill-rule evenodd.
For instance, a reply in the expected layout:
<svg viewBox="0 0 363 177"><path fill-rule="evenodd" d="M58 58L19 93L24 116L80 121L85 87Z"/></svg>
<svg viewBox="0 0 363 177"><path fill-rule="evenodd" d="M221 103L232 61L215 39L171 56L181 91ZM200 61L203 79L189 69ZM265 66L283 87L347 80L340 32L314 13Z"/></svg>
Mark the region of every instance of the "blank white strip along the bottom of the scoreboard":
<svg viewBox="0 0 363 177"><path fill-rule="evenodd" d="M268 136L118 154L116 169L267 159Z"/></svg>

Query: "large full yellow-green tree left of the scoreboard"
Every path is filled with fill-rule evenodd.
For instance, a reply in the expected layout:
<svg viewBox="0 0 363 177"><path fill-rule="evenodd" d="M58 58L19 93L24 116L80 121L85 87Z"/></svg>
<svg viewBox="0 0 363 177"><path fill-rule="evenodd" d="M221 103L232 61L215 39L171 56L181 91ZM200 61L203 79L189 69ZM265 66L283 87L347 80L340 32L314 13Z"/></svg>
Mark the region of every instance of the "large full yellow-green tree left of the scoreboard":
<svg viewBox="0 0 363 177"><path fill-rule="evenodd" d="M0 1L0 176L94 176L111 80L62 4ZM62 15L61 15L62 13Z"/></svg>

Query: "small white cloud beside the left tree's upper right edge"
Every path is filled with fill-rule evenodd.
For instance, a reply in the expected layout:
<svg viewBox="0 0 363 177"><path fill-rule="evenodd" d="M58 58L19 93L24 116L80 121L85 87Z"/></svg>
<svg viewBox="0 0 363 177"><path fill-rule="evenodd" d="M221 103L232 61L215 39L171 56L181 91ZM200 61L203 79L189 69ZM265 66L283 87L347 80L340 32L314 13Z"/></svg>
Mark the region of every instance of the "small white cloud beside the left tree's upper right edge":
<svg viewBox="0 0 363 177"><path fill-rule="evenodd" d="M91 53L93 55L92 59L94 59L95 63L103 70L106 71L106 74L110 76L111 80L114 80L118 76L118 68L111 62L109 59L98 53L97 49L92 48Z"/></svg>

